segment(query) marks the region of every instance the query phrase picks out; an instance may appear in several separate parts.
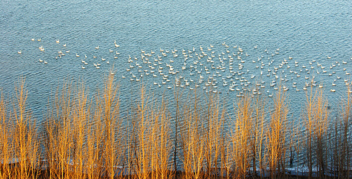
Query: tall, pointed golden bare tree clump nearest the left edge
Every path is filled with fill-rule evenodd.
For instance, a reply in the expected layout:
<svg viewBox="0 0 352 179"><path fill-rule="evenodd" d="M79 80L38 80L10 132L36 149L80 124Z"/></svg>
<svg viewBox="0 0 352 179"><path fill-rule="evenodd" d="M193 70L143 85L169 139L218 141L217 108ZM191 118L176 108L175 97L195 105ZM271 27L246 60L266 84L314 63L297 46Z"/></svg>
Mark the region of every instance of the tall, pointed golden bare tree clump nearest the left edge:
<svg viewBox="0 0 352 179"><path fill-rule="evenodd" d="M20 78L15 83L13 97L13 111L11 118L14 120L14 133L12 134L14 159L14 175L16 179L37 179L40 171L40 151L37 140L37 128L30 109L26 106L27 91L25 79Z"/></svg>

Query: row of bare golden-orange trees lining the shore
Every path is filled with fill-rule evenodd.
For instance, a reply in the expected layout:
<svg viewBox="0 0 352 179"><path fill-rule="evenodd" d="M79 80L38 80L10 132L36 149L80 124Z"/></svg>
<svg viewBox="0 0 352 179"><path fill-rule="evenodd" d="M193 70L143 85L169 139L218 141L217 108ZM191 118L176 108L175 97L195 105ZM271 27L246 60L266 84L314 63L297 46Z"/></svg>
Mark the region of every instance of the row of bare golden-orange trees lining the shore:
<svg viewBox="0 0 352 179"><path fill-rule="evenodd" d="M11 103L0 98L0 179L275 179L295 164L308 178L351 177L351 85L336 115L323 89L309 88L299 121L281 88L273 98L236 97L228 109L217 93L176 88L166 101L140 85L120 109L108 76L93 97L84 83L58 88L40 124L24 79L14 91Z"/></svg>

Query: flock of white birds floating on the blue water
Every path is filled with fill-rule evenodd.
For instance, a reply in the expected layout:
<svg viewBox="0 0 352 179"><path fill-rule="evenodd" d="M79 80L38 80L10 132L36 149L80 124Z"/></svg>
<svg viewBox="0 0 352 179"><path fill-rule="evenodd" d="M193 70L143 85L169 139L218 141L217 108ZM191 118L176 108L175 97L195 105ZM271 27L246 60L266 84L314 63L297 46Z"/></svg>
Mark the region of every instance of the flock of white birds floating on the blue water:
<svg viewBox="0 0 352 179"><path fill-rule="evenodd" d="M31 40L35 41L35 39ZM37 41L41 41L41 39L37 39ZM59 44L60 40L56 40L56 43ZM63 47L66 47L66 44L63 44ZM117 47L119 45L115 41L112 48ZM317 85L319 88L323 88L322 84L315 81L318 76L320 78L334 78L330 88L332 92L336 91L334 87L339 80L344 80L346 86L351 86L349 72L351 66L345 60L339 62L327 56L330 65L324 65L316 60L300 64L304 62L297 62L292 57L280 57L280 48L275 49L272 53L265 49L264 55L260 55L260 57L249 57L249 54L239 45L230 47L225 42L218 48L222 49L220 52L216 53L213 48L214 46L210 44L208 47L179 49L180 51L175 48L173 50L160 48L157 53L153 50L148 52L141 50L137 56L132 58L128 55L126 60L119 63L123 66L121 69L126 71L121 71L120 75L128 74L121 75L121 77L129 79L131 82L138 82L143 78L150 77L147 81L153 81L153 85L165 86L167 89L180 87L194 90L203 88L206 92L215 93L236 91L238 97L244 96L245 92L262 94L265 90L268 96L272 97L274 90L282 88L286 91L290 89L291 85L292 90L295 91L307 90L308 87ZM257 46L253 48L255 51L260 51ZM95 50L99 49L99 46L95 47ZM40 46L39 50L44 51L45 49ZM109 52L113 53L114 50L109 49ZM17 53L21 54L22 51ZM60 50L55 58L61 58L69 53L70 50ZM118 55L119 53L115 50L113 58L117 59ZM76 53L76 58L80 59L82 69L89 67L86 62L87 55L80 58L80 55ZM98 59L101 62L110 63L104 57L100 59L93 55L93 59L97 61L97 63L93 63L96 69L101 67ZM47 64L45 60L39 59L39 62ZM339 77L335 70L343 71L338 74L344 75ZM115 73L111 71L110 74L114 75ZM287 86L288 84L290 85ZM351 90L349 92L352 93Z"/></svg>

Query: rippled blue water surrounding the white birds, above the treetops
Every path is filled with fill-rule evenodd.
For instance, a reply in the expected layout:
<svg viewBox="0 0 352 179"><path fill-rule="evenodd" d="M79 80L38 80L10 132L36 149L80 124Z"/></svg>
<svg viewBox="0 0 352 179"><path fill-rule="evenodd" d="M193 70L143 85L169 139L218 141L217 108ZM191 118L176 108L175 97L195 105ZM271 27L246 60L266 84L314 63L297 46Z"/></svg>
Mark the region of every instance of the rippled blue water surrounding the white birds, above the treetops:
<svg viewBox="0 0 352 179"><path fill-rule="evenodd" d="M174 58L169 53L163 58L164 68L166 69L166 63L173 59L172 65L182 76L196 81L198 75L195 75L197 78L189 75L189 65L194 62L193 59L187 60L186 70L181 70L184 62L182 49L188 51L195 47L197 53L200 53L200 46L207 51L207 47L212 44L217 66L220 64L218 54L225 52L224 56L228 58L227 48L222 45L224 41L230 46L229 54L237 52L233 46L240 46L243 49L242 59L245 60L243 77L248 80L252 74L259 77L260 70L256 69L255 65L260 62L254 64L252 60L259 57L265 62L266 66L262 69L262 80L266 82L263 95L267 95L266 90L273 91L269 83L274 76L266 77L267 69L278 67L285 58L291 68L288 69L287 65L284 65L279 71L284 70L283 75L287 75L289 79L286 83L290 88L290 106L297 111L300 110L300 97L304 92L296 92L292 83L296 82L298 88L302 89L307 81L304 76L309 74L303 71L301 78L296 78L293 73L289 73L290 70L299 71L302 65L310 68L309 62L316 60L312 65L315 68L311 72L315 72L317 82L323 81L332 104L338 103L341 94L346 91L344 79L349 78L346 72L352 73L351 1L1 0L0 6L0 87L5 94L11 94L14 81L19 76L25 76L28 102L39 118L51 92L55 91L65 78L83 78L91 93L94 93L96 87L102 84L103 76L109 74L113 65L121 87L123 107L138 88L136 82L129 81L131 74L125 70L129 67L128 56L132 59L136 56L138 63L143 66L142 69L148 69L140 60L141 49L148 53L150 50L156 52L149 58L151 61L157 54L161 55L160 48L170 52L177 49L179 57ZM31 38L35 38L35 41L31 41ZM39 38L41 42L37 41ZM57 39L60 39L60 43L55 43ZM114 47L115 40L120 47ZM63 47L65 43L67 46ZM98 45L99 50L96 50ZM40 46L44 47L44 52L38 49ZM271 56L277 48L280 48L279 54ZM109 49L114 52L110 53ZM265 49L268 53L264 52ZM17 53L20 50L22 54ZM70 50L70 53L55 59L59 50ZM118 59L113 58L115 51L120 53L117 55ZM80 58L75 56L76 53ZM210 54L210 51L207 53ZM85 54L88 56L88 65L83 70L81 60ZM97 56L97 59L94 59L93 55ZM196 58L196 55L193 56ZM102 57L110 61L110 64L102 61ZM270 66L267 64L268 57L274 60ZM289 60L288 57L293 59ZM48 64L39 63L39 59L47 61ZM202 61L206 64L205 60L206 58L203 58ZM227 65L228 61L229 59L226 61ZM294 66L294 61L299 62L299 67ZM342 64L343 61L347 64ZM101 69L93 66L93 63L97 62L102 64ZM320 69L321 73L316 74L317 62L326 67L328 72L322 73ZM330 69L333 63L336 67ZM135 62L132 64L135 65ZM234 71L239 71L237 64L235 59ZM210 64L206 66L211 67ZM198 70L200 69L201 66L198 65ZM157 72L157 68L155 71ZM328 76L333 71L336 73ZM134 75L142 74L137 72L137 68L131 72ZM167 73L166 70L165 72ZM209 75L215 72L213 70ZM222 74L222 77L226 77L229 69ZM122 79L122 75L126 78ZM208 74L203 71L202 75L207 79ZM173 86L175 77L171 74L169 76L171 82L162 88L152 85L153 82L161 83L160 75L156 79L144 75L143 81L151 84L154 95L161 95L168 85ZM337 76L341 79L337 79ZM231 101L235 98L236 91L229 92L229 86L223 88L222 77L216 77L219 82L218 90ZM337 86L332 87L334 79L337 79ZM251 82L255 83L254 80ZM194 87L194 83L190 86ZM202 85L200 89L203 89ZM330 89L336 89L336 92L330 92ZM166 90L166 94L171 94L170 91Z"/></svg>

